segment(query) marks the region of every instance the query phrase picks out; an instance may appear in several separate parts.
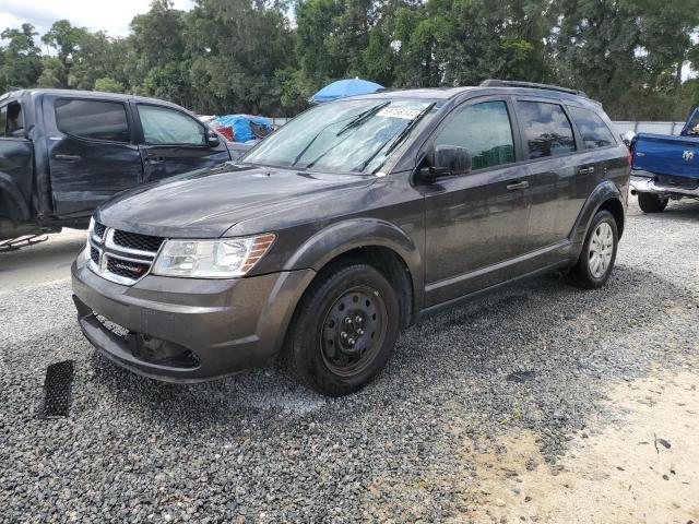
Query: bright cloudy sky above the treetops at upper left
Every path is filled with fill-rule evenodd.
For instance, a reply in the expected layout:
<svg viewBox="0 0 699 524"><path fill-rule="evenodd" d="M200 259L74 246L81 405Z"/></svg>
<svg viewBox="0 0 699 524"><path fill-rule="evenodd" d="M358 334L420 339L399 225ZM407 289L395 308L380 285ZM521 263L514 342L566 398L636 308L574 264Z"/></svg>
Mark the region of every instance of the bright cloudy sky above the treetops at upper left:
<svg viewBox="0 0 699 524"><path fill-rule="evenodd" d="M174 0L177 9L191 9L193 0ZM57 20L90 31L105 31L109 36L126 36L129 23L145 13L151 0L0 0L0 31L29 22L39 35Z"/></svg>

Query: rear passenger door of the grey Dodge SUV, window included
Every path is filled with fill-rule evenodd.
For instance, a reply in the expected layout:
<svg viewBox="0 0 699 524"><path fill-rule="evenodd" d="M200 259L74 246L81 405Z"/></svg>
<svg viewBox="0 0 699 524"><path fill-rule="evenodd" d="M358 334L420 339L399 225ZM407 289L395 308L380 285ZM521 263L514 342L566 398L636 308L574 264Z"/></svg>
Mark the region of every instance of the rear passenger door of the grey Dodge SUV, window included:
<svg viewBox="0 0 699 524"><path fill-rule="evenodd" d="M580 165L573 127L561 104L518 98L516 107L529 160L529 251L536 251L565 242L589 195L580 178L594 167Z"/></svg>

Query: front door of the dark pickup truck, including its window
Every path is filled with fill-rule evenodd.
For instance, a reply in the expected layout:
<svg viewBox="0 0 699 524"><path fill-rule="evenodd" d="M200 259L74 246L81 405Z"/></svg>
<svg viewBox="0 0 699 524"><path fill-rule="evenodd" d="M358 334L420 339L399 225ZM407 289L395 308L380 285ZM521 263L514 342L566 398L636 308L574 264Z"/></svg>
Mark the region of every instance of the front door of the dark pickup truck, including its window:
<svg viewBox="0 0 699 524"><path fill-rule="evenodd" d="M137 108L146 182L230 159L225 142L209 144L209 129L190 115L154 104L138 104Z"/></svg>

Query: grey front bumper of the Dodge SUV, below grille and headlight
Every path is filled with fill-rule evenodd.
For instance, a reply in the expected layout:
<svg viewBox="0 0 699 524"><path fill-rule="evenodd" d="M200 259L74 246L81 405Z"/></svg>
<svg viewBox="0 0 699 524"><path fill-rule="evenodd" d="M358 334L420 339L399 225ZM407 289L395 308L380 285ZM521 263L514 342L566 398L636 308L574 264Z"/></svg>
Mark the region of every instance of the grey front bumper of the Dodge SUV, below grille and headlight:
<svg viewBox="0 0 699 524"><path fill-rule="evenodd" d="M234 279L147 275L125 286L96 275L82 255L71 272L87 340L118 365L169 382L211 380L268 362L315 276L312 270ZM175 358L144 355L144 345Z"/></svg>

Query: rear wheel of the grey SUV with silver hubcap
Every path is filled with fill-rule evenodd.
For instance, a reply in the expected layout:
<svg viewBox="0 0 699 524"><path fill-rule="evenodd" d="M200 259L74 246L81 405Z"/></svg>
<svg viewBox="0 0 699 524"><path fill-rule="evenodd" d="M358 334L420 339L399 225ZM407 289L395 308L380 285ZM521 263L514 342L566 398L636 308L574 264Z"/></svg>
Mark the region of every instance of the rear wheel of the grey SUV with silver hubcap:
<svg viewBox="0 0 699 524"><path fill-rule="evenodd" d="M588 289L604 286L614 270L618 241L614 215L600 211L590 223L578 262L568 275L569 281Z"/></svg>

